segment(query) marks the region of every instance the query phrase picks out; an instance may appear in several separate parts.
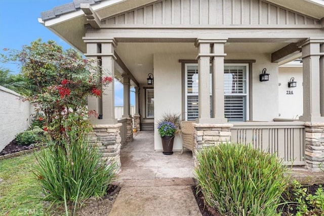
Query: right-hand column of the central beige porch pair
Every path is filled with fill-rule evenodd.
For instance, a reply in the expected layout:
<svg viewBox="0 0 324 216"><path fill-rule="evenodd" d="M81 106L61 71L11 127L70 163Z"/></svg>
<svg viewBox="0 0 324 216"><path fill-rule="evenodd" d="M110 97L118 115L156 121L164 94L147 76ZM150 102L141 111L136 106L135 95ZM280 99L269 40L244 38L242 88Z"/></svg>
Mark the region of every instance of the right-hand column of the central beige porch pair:
<svg viewBox="0 0 324 216"><path fill-rule="evenodd" d="M225 123L224 111L224 44L226 40L215 40L212 46L212 109L215 123Z"/></svg>

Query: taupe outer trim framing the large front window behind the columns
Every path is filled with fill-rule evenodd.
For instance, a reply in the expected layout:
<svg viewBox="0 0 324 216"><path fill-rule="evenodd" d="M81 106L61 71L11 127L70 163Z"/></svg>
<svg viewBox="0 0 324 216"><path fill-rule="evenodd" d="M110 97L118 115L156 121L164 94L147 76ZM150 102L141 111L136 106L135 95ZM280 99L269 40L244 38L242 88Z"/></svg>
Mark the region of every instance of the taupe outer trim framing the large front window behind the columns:
<svg viewBox="0 0 324 216"><path fill-rule="evenodd" d="M246 94L242 94L246 96L246 121L252 120L252 90L253 90L253 82L252 82L252 66L253 63L255 63L256 60L224 60L224 66L226 65L244 65L246 66ZM179 63L181 63L181 70L182 70L182 112L184 115L182 115L182 120L187 120L188 113L187 113L187 65L197 65L197 60L179 60ZM239 96L241 94L237 94ZM225 96L225 94L224 94ZM235 95L234 95L235 96Z"/></svg>

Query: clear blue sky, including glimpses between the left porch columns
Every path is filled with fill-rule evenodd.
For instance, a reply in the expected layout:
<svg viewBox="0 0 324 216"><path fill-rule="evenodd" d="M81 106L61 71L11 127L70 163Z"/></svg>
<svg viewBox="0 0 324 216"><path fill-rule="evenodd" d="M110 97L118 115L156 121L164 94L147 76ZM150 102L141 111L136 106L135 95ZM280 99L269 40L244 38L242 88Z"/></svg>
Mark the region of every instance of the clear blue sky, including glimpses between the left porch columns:
<svg viewBox="0 0 324 216"><path fill-rule="evenodd" d="M38 23L37 18L41 17L41 12L71 2L73 0L0 0L0 53L4 53L4 48L20 50L37 38L54 40L69 49L65 41ZM20 71L17 65L0 64L12 73ZM131 95L131 104L134 104L134 94ZM119 82L115 83L115 106L123 106L123 85Z"/></svg>

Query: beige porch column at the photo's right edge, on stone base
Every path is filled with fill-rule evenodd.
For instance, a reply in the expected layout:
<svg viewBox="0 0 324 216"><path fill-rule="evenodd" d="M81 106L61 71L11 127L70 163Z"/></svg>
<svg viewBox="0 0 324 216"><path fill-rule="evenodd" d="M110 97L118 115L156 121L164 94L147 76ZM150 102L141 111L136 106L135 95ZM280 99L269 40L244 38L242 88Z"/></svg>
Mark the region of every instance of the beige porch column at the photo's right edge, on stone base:
<svg viewBox="0 0 324 216"><path fill-rule="evenodd" d="M322 95L320 84L320 64L319 57L324 55L320 53L320 44L323 39L307 39L300 46L302 47L303 59L303 99L304 113L300 117L303 121L324 122L324 116L320 114L320 103Z"/></svg>

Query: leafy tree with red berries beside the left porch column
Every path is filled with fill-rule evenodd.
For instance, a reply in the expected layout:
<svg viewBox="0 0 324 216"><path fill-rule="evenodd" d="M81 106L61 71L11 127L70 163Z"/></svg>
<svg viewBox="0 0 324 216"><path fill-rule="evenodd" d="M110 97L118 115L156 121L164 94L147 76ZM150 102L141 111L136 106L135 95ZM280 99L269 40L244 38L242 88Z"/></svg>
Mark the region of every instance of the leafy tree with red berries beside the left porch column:
<svg viewBox="0 0 324 216"><path fill-rule="evenodd" d="M54 41L37 39L21 50L8 50L6 61L21 66L21 76L35 87L25 100L45 114L44 130L59 144L69 143L73 127L90 128L86 99L101 97L112 77L95 61L83 59L75 50L63 50ZM92 111L95 113L95 111Z"/></svg>

